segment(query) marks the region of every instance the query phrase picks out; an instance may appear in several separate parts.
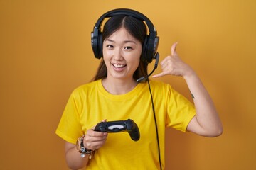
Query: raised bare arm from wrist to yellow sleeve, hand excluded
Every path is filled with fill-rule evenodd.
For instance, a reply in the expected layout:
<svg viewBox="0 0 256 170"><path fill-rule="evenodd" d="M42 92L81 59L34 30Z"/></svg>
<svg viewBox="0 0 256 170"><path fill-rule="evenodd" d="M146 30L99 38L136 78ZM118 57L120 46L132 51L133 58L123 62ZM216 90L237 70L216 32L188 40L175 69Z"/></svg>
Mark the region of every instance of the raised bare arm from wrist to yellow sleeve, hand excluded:
<svg viewBox="0 0 256 170"><path fill-rule="evenodd" d="M196 116L188 124L187 130L207 137L221 135L223 128L218 112L203 83L195 72L186 75L184 79L193 95L196 107Z"/></svg>

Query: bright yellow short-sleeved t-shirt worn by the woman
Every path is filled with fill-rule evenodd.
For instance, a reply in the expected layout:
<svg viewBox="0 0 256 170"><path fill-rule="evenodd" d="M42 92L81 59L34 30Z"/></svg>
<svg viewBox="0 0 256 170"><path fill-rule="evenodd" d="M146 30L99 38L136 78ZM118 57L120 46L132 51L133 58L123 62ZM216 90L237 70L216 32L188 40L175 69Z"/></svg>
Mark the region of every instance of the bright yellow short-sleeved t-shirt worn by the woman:
<svg viewBox="0 0 256 170"><path fill-rule="evenodd" d="M154 100L161 164L164 169L165 128L171 126L182 132L196 114L186 98L169 84L150 81ZM75 144L78 137L100 121L132 119L139 127L140 140L134 142L128 132L110 133L105 145L95 151L87 169L159 169L154 115L147 83L140 83L127 94L113 95L92 81L75 89L60 120L56 134Z"/></svg>

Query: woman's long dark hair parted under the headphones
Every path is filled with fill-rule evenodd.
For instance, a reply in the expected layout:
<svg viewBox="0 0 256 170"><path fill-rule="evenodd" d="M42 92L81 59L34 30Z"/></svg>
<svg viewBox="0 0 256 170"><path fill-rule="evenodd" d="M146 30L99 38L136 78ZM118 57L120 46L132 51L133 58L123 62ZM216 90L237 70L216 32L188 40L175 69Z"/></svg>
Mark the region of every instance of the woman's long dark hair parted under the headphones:
<svg viewBox="0 0 256 170"><path fill-rule="evenodd" d="M109 38L115 31L119 30L120 28L125 28L129 34L131 34L134 38L139 40L142 44L142 53L143 53L143 45L144 40L146 38L146 25L143 21L140 21L137 18L132 16L124 16L124 15L117 15L112 16L104 25L103 32L102 32L102 42ZM104 56L103 56L104 57ZM147 75L147 62L143 62L140 60L139 67L134 72L134 79L139 79L140 77L146 77ZM97 69L97 73L92 81L102 79L107 77L107 67L102 59L100 61L100 65Z"/></svg>

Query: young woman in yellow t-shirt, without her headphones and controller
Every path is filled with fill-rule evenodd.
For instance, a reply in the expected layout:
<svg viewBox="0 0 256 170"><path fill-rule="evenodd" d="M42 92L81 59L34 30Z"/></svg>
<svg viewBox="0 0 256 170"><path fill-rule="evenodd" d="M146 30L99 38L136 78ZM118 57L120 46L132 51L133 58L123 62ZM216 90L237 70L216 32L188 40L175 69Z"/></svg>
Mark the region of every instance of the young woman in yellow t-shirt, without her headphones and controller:
<svg viewBox="0 0 256 170"><path fill-rule="evenodd" d="M147 76L148 62L141 60L146 31L142 20L124 14L105 23L103 57L95 79L73 91L56 130L66 141L70 169L164 169L166 127L206 137L222 133L213 101L196 72L178 57L177 43L161 61L162 72L153 77L183 77L194 103L161 81L137 82ZM127 119L138 125L137 142L127 132L94 130L101 121Z"/></svg>

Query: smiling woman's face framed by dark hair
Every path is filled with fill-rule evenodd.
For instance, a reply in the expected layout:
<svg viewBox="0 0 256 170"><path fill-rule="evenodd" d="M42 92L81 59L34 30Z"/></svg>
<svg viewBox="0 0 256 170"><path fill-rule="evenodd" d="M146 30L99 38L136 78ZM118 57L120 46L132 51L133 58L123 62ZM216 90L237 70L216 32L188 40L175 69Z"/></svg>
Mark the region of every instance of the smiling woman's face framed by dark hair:
<svg viewBox="0 0 256 170"><path fill-rule="evenodd" d="M103 42L103 59L107 66L107 78L133 79L139 66L142 44L120 28Z"/></svg>

